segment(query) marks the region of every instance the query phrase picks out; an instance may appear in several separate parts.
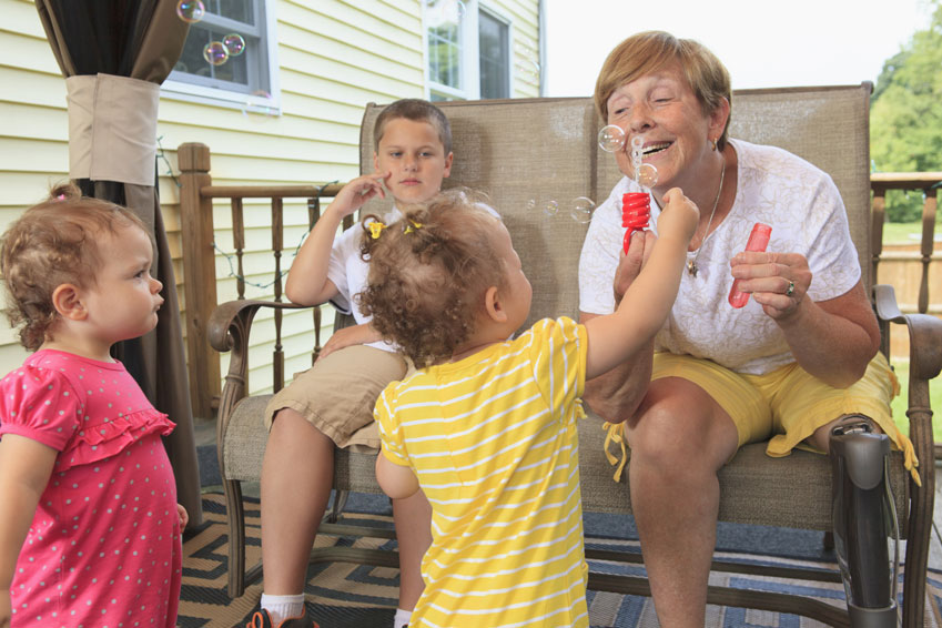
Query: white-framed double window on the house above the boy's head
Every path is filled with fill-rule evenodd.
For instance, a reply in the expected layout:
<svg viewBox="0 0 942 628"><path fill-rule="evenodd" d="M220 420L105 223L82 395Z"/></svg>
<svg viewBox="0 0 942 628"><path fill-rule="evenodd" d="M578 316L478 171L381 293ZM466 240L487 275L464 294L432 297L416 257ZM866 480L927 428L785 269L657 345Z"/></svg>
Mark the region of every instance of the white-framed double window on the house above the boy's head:
<svg viewBox="0 0 942 628"><path fill-rule="evenodd" d="M510 97L510 23L478 0L426 0L428 98Z"/></svg>

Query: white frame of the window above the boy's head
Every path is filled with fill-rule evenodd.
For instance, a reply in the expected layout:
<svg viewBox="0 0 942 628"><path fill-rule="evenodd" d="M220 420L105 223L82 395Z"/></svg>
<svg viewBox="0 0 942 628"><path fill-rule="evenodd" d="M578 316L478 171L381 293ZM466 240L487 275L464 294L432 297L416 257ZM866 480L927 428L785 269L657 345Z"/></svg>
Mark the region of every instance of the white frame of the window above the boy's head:
<svg viewBox="0 0 942 628"><path fill-rule="evenodd" d="M446 98L455 100L478 100L480 98L480 50L478 38L480 37L478 29L478 16L480 11L485 11L489 17L507 26L508 51L507 51L507 72L509 78L510 98L514 95L514 22L510 18L490 7L486 2L478 0L465 0L465 12L459 22L459 32L462 41L460 52L460 71L465 79L464 89L453 88L438 82L434 82L428 73L428 23L426 21L426 2L422 3L422 48L423 63L425 73L425 98L431 100L432 94L442 94Z"/></svg>

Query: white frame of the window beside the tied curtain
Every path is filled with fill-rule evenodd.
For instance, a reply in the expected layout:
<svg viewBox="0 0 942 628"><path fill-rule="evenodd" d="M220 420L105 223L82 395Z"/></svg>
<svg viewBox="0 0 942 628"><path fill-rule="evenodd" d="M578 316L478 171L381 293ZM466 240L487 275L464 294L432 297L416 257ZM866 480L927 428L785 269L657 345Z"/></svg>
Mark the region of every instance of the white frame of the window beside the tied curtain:
<svg viewBox="0 0 942 628"><path fill-rule="evenodd" d="M257 1L257 0L256 0ZM205 85L179 80L179 72L171 72L170 77L161 85L161 95L173 100L185 102L197 102L201 104L213 104L231 109L241 109L247 112L262 112L266 114L281 113L281 83L278 81L277 59L277 19L275 16L276 0L264 0L264 43L269 60L269 95L246 93L226 89L220 81L217 85ZM185 77L185 74L183 74Z"/></svg>

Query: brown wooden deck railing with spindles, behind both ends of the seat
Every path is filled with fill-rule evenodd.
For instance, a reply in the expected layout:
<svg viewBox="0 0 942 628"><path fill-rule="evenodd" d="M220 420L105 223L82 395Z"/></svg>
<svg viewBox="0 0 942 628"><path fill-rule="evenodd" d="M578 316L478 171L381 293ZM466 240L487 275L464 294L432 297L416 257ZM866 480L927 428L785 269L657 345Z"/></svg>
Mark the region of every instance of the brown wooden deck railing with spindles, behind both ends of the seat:
<svg viewBox="0 0 942 628"><path fill-rule="evenodd" d="M284 200L307 200L307 226L314 225L321 215L321 199L333 197L342 188L334 183L316 185L213 185L210 176L210 149L205 144L181 144L176 152L180 168L180 214L183 240L183 275L186 311L186 350L190 364L190 393L193 398L195 416L210 417L219 404L221 389L220 358L206 340L206 323L217 305L216 300L216 251L215 232L213 226L213 199L230 199L232 209L232 246L236 260L235 277L237 298L245 297L245 281L243 270L243 252L245 250L244 199L271 200L272 226L272 288L275 301L282 301L282 259L284 250ZM871 175L873 191L873 277L882 261L909 260L921 264L922 276L919 282L916 311L921 313L941 314L942 295L930 295L930 265L942 266L942 252L934 253L933 232L938 207L939 189L933 188L942 182L942 172L930 173L874 173ZM883 254L883 220L887 190L922 190L925 202L922 213L922 239L918 253ZM257 210L260 207L253 207ZM350 225L350 221L345 226ZM942 246L940 246L942 250ZM898 288L899 290L899 288ZM904 295L901 306L910 303ZM936 303L931 303L930 297ZM911 311L911 310L910 310ZM314 308L314 340L316 352L320 347L321 311ZM284 351L281 342L282 311L274 312L275 340L272 359L274 362L273 387L281 387L284 382Z"/></svg>

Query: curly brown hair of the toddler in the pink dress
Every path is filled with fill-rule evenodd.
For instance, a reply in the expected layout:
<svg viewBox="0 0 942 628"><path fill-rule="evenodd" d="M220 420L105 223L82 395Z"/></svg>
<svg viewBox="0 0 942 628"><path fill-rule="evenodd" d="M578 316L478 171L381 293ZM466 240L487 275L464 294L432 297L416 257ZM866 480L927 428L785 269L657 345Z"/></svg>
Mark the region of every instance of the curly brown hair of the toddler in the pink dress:
<svg viewBox="0 0 942 628"><path fill-rule="evenodd" d="M7 285L3 313L20 326L20 344L36 351L50 334L57 313L52 293L64 283L94 285L104 252L101 233L135 225L141 220L114 203L82 196L71 184L57 185L49 199L27 210L0 239L0 272Z"/></svg>

